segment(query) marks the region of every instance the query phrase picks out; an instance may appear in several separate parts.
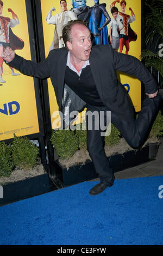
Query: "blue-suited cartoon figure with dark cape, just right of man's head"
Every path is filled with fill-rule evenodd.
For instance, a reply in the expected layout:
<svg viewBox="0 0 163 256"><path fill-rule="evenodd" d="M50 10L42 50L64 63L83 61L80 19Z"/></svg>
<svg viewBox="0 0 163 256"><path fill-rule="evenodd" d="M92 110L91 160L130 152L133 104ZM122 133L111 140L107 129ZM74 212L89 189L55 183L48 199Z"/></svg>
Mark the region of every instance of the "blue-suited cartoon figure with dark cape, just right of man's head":
<svg viewBox="0 0 163 256"><path fill-rule="evenodd" d="M90 7L83 21L87 21L90 17L89 29L94 37L94 45L109 44L108 29L106 25L109 24L111 19L108 11L106 11L106 4L99 4L99 0L94 0L94 2L95 5Z"/></svg>

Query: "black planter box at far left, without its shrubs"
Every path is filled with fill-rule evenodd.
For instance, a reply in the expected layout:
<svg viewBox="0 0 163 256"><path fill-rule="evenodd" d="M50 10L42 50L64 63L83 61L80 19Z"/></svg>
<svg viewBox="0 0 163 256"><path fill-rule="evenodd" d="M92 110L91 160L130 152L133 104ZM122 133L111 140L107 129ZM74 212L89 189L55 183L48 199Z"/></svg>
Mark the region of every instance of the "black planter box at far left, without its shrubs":
<svg viewBox="0 0 163 256"><path fill-rule="evenodd" d="M48 173L3 185L0 206L50 191Z"/></svg>

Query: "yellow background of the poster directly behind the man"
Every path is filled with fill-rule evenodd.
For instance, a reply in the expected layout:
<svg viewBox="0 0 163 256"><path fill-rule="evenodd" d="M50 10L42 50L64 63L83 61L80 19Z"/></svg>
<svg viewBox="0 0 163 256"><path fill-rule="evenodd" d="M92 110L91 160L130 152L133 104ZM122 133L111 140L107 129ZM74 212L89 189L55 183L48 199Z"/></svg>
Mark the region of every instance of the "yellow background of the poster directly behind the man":
<svg viewBox="0 0 163 256"><path fill-rule="evenodd" d="M43 26L43 35L44 35L44 43L45 43L45 54L46 57L48 56L49 48L53 41L53 35L54 35L54 25L47 25L45 23L47 14L49 10L52 9L52 7L55 7L55 11L52 12L52 15L56 15L60 13L60 4L59 0L41 0L41 9L42 9L42 26ZM70 10L72 8L72 0L67 0L67 9ZM112 19L112 14L110 13L110 4L113 2L113 0L99 0L99 3L106 3L106 10L108 11L110 18ZM129 7L133 9L136 20L130 24L133 31L137 34L137 40L135 42L130 42L130 50L129 54L138 58L141 54L141 0L133 1L133 0L126 0L127 6L126 6L126 14L131 15L131 11L129 10ZM95 4L94 0L87 0L86 5L89 7L92 7ZM118 10L121 11L120 3L116 3L115 5ZM108 31L109 31L109 25L108 25ZM123 48L123 53L125 53L125 47ZM55 60L54 60L55 61ZM129 95L131 97L131 100L133 101L133 105L135 107L135 111L139 112L141 110L141 82L137 80L136 78L124 74L118 73L118 78L121 81L122 84L129 84L130 91ZM127 88L127 87L126 87ZM48 92L49 92L49 104L51 109L51 122L52 122L52 129L55 129L54 127L54 120L55 115L53 114L55 111L58 110L57 100L55 98L54 89L51 83L51 80L48 79Z"/></svg>

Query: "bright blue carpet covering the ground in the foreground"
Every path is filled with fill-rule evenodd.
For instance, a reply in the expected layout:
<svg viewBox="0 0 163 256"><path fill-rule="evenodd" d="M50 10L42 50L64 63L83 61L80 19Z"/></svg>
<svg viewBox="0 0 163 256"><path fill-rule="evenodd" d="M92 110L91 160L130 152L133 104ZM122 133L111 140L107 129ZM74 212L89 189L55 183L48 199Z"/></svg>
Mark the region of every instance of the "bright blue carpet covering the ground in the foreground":
<svg viewBox="0 0 163 256"><path fill-rule="evenodd" d="M162 245L163 176L83 182L0 207L0 245ZM163 193L162 193L163 194Z"/></svg>

